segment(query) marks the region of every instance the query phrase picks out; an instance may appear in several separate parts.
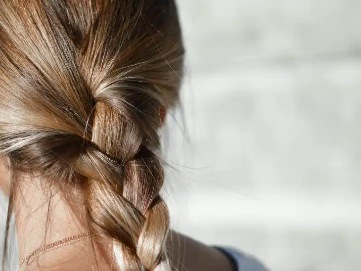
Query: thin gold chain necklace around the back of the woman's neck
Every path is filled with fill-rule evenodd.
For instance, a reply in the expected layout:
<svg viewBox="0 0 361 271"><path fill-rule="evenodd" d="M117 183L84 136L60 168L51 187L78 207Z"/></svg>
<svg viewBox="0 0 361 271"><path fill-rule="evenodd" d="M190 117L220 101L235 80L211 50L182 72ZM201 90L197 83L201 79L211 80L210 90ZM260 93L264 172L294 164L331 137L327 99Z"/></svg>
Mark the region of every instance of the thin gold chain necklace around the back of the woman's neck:
<svg viewBox="0 0 361 271"><path fill-rule="evenodd" d="M71 243L74 243L74 242L79 241L81 239L84 239L84 238L86 238L86 237L88 237L90 235L91 235L91 232L83 232L83 233L80 233L80 234L77 234L77 235L73 235L73 236L64 238L64 239L59 240L59 241L55 241L55 242L53 242L51 244L41 246L41 247L37 248L36 250L34 250L32 253L30 253L28 256L26 256L23 260L21 260L18 267L16 268L16 271L20 271L21 266L23 266L25 263L28 264L29 261L32 258L36 257L36 256L40 256L40 255L44 254L45 252L47 252L49 250L59 248L59 247L62 247L62 246L65 246L65 245L68 245L68 244L71 244Z"/></svg>

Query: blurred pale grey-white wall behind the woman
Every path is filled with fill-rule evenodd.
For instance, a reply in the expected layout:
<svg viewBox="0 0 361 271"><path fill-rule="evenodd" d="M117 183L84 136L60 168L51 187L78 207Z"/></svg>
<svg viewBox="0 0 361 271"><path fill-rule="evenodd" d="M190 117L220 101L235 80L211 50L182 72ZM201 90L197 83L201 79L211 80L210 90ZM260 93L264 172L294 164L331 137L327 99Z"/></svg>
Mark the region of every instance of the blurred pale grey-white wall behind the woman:
<svg viewBox="0 0 361 271"><path fill-rule="evenodd" d="M361 270L361 1L178 2L173 227L272 271Z"/></svg>

